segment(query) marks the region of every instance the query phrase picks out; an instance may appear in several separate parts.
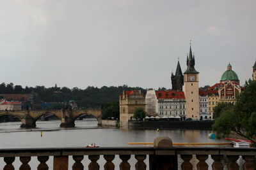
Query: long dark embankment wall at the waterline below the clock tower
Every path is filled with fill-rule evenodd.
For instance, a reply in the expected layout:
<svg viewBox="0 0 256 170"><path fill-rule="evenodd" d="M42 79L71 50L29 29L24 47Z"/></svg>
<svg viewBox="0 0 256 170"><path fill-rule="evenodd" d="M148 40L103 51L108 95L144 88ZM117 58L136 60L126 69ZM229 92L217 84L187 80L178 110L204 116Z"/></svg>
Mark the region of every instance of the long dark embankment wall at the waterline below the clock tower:
<svg viewBox="0 0 256 170"><path fill-rule="evenodd" d="M129 121L129 129L194 129L212 130L214 120L195 121Z"/></svg>

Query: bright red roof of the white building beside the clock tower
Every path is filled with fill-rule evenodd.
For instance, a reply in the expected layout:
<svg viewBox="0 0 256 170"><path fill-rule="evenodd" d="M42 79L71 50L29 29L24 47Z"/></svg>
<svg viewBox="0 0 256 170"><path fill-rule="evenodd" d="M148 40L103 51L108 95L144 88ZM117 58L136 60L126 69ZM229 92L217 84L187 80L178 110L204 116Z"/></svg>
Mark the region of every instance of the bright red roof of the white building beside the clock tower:
<svg viewBox="0 0 256 170"><path fill-rule="evenodd" d="M184 92L177 92L175 90L157 90L157 99L185 99Z"/></svg>

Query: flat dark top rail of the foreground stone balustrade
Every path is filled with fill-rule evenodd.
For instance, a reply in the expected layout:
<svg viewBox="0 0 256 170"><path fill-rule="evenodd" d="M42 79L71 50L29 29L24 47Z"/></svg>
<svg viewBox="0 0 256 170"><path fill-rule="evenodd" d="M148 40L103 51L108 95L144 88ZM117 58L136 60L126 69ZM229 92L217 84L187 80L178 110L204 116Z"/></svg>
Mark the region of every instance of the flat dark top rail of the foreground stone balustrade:
<svg viewBox="0 0 256 170"><path fill-rule="evenodd" d="M0 157L67 155L256 155L256 148L217 147L100 147L100 148L4 148Z"/></svg>

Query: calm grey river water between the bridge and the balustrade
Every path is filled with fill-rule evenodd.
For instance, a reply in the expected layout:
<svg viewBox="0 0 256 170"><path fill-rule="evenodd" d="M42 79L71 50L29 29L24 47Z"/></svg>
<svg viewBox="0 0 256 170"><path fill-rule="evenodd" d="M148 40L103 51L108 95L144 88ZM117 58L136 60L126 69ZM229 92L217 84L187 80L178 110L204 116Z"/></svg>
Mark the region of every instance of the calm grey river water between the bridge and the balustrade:
<svg viewBox="0 0 256 170"><path fill-rule="evenodd" d="M20 129L20 122L7 122L0 124L0 148L61 148L61 147L84 147L90 143L96 143L99 146L131 146L128 143L150 143L158 136L168 136L173 143L226 143L225 139L209 139L207 136L211 131L199 130L136 130L136 129L117 129L104 128L97 126L97 120L86 119L76 120L76 127L61 128L60 120L38 121L36 128ZM42 137L40 136L43 132ZM207 160L212 162L211 159ZM88 169L90 160L86 156L82 161L84 169ZM102 156L98 161L100 169L106 162ZM116 169L120 159L118 157L113 161ZM145 160L148 162L148 158ZM74 160L70 157L70 169ZM134 157L130 160L131 169L134 169L136 161ZM29 162L31 169L36 169L39 162L36 157L32 157ZM49 169L52 169L52 157L47 161ZM195 162L196 164L196 162ZM0 158L0 169L3 169L5 163ZM15 169L19 169L20 161L18 158L13 163ZM148 167L147 167L148 168Z"/></svg>

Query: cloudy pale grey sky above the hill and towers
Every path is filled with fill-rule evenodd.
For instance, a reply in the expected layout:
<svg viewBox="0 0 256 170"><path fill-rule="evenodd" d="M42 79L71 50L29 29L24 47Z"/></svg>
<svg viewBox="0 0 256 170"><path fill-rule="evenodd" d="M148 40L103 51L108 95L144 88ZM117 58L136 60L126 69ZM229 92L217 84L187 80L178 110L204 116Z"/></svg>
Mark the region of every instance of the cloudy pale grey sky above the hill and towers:
<svg viewBox="0 0 256 170"><path fill-rule="evenodd" d="M189 40L200 86L256 60L256 1L0 0L0 82L171 88Z"/></svg>

